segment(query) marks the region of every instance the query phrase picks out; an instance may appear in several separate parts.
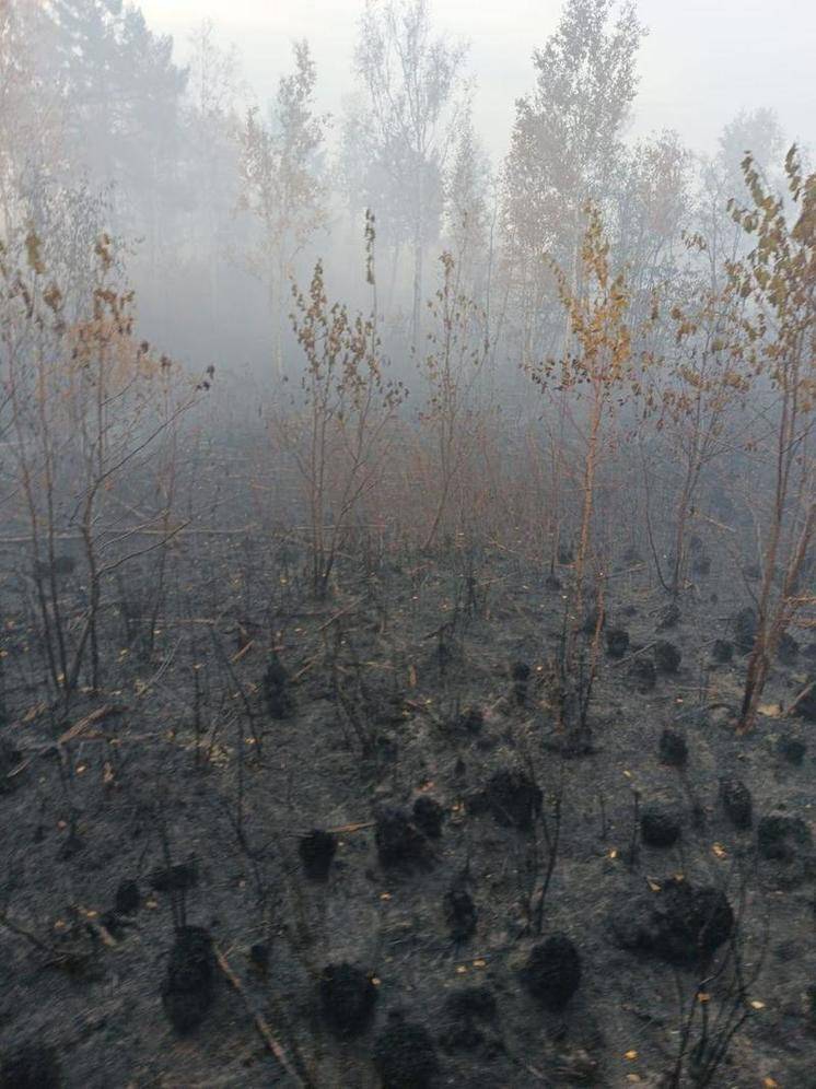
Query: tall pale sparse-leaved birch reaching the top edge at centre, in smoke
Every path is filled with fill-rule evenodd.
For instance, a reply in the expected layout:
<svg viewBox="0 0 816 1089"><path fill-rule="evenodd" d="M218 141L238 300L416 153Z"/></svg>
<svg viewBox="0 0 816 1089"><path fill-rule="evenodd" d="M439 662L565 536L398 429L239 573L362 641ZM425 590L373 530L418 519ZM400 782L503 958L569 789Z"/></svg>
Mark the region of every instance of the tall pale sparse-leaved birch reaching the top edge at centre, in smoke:
<svg viewBox="0 0 816 1089"><path fill-rule="evenodd" d="M370 207L386 225L400 208L409 216L415 350L421 335L424 249L439 237L443 172L464 60L463 45L434 36L428 0L368 0L355 65L370 107L372 173L386 198L370 200Z"/></svg>

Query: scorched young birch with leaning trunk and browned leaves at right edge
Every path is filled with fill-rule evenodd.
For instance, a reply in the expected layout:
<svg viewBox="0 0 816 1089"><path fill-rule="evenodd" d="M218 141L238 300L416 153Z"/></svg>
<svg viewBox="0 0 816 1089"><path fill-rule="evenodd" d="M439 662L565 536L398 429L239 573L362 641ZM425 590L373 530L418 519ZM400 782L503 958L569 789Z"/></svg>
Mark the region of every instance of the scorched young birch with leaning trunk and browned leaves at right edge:
<svg viewBox="0 0 816 1089"><path fill-rule="evenodd" d="M756 243L728 264L745 300L744 338L735 349L767 387L767 425L751 447L772 464L771 501L761 512L757 631L748 658L737 728L750 729L782 636L816 597L803 584L816 535L816 174L805 176L794 148L785 159L791 211L768 191L751 155L743 161L751 204L731 210ZM767 436L767 437L766 437Z"/></svg>

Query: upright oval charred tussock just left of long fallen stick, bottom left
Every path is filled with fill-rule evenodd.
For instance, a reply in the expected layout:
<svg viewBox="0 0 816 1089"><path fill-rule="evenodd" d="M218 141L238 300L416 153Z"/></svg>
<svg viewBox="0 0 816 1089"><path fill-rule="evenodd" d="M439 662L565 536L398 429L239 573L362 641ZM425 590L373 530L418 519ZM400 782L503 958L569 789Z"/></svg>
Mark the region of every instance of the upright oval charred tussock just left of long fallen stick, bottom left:
<svg viewBox="0 0 816 1089"><path fill-rule="evenodd" d="M190 1032L212 1005L215 958L209 930L182 926L170 953L162 1005L176 1032Z"/></svg>

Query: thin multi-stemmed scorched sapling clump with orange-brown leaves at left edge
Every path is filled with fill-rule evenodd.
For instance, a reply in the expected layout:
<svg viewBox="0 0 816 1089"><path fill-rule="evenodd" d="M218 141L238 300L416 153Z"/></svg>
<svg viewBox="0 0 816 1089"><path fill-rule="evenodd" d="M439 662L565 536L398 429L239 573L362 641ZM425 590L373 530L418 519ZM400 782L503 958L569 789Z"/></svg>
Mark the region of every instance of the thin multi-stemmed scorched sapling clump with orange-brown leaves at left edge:
<svg viewBox="0 0 816 1089"><path fill-rule="evenodd" d="M120 502L129 475L149 467L159 440L203 385L137 340L133 295L117 285L110 239L95 245L95 285L73 321L38 237L28 234L24 249L20 262L0 249L2 376L20 496L12 518L30 547L47 671L67 709L83 671L100 687L112 576L163 549L180 528L166 510L124 517ZM66 541L77 542L73 552ZM82 574L79 619L66 611L62 593L74 569Z"/></svg>

